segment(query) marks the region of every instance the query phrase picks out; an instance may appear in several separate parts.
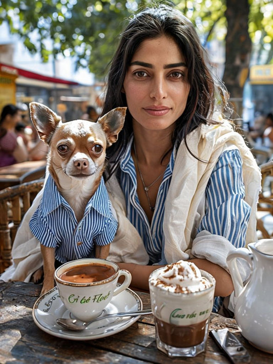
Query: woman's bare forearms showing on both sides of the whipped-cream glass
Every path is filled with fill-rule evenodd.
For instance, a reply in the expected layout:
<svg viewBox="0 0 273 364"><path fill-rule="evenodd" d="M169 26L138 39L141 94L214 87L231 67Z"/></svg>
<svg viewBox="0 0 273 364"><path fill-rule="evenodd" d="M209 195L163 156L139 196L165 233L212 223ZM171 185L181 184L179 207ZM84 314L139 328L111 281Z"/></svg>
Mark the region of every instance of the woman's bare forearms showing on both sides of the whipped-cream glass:
<svg viewBox="0 0 273 364"><path fill-rule="evenodd" d="M199 269L211 273L216 279L215 296L228 296L232 291L233 283L230 275L219 265L205 259L192 259ZM134 263L118 263L120 269L127 269L132 274L131 286L140 290L149 291L149 275L162 265L139 265Z"/></svg>

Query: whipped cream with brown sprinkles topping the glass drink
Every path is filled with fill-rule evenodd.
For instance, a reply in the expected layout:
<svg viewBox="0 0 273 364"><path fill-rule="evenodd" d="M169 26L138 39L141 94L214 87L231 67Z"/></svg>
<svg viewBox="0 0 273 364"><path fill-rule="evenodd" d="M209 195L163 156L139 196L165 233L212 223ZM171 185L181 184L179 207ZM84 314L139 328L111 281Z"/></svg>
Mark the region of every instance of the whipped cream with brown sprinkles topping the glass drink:
<svg viewBox="0 0 273 364"><path fill-rule="evenodd" d="M178 261L158 269L150 282L174 293L194 293L213 285L202 277L200 269L194 263L186 261Z"/></svg>

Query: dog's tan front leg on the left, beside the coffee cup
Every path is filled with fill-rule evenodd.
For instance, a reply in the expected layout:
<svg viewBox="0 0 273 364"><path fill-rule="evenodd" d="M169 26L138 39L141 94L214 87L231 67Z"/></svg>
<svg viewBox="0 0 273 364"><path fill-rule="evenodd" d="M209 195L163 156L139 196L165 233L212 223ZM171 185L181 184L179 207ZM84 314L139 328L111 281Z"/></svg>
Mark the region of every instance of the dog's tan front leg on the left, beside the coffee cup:
<svg viewBox="0 0 273 364"><path fill-rule="evenodd" d="M44 283L41 295L54 288L55 272L55 248L49 248L41 244L41 255L44 260Z"/></svg>

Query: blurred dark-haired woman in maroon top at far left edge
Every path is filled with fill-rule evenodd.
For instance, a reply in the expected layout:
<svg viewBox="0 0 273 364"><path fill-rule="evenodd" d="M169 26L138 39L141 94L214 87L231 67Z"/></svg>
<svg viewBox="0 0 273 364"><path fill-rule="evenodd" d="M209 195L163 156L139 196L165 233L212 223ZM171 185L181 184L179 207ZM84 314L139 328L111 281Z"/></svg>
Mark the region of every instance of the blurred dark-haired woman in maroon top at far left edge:
<svg viewBox="0 0 273 364"><path fill-rule="evenodd" d="M28 159L24 140L15 133L15 126L20 120L20 109L17 106L4 106L0 116L0 167Z"/></svg>

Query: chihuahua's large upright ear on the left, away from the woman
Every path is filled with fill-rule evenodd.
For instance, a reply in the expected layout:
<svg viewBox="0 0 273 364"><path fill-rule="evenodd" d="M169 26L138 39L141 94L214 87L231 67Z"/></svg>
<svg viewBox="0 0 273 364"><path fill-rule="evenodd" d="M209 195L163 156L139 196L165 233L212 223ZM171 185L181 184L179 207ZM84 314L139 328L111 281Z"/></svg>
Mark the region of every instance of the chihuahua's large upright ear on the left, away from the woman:
<svg viewBox="0 0 273 364"><path fill-rule="evenodd" d="M38 102L31 102L29 107L30 117L39 134L39 138L46 144L49 144L57 125L61 122L61 117L47 106Z"/></svg>

